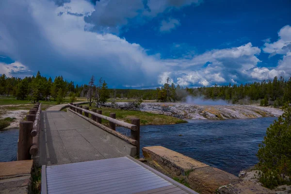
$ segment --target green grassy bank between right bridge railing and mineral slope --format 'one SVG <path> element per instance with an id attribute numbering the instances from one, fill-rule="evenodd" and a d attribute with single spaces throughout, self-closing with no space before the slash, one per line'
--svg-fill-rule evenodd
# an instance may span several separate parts
<path id="1" fill-rule="evenodd" d="M 89 107 L 91 110 L 94 107 Z M 187 121 L 178 119 L 172 116 L 162 115 L 162 114 L 154 114 L 154 113 L 146 113 L 142 111 L 128 111 L 128 110 L 120 110 L 120 109 L 112 109 L 112 108 L 101 108 L 98 110 L 102 110 L 102 114 L 105 116 L 109 116 L 110 113 L 116 113 L 116 119 L 122 120 L 124 122 L 130 123 L 132 118 L 139 118 L 141 125 L 168 125 L 168 124 L 178 124 L 178 123 L 187 123 Z M 91 117 L 91 115 L 89 115 Z M 109 121 L 102 119 L 102 123 L 104 125 L 109 125 Z"/>

